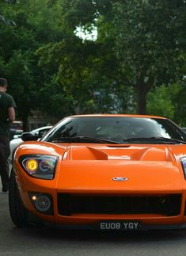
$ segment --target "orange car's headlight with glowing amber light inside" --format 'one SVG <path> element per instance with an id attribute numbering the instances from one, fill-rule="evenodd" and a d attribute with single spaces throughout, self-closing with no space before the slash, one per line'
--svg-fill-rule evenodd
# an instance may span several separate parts
<path id="1" fill-rule="evenodd" d="M 19 163 L 33 178 L 51 180 L 55 176 L 57 160 L 55 155 L 22 155 Z"/>

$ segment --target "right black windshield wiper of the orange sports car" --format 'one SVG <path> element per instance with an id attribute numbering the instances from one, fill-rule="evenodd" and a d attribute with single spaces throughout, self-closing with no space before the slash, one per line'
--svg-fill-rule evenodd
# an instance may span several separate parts
<path id="1" fill-rule="evenodd" d="M 165 137 L 139 137 L 139 138 L 128 138 L 128 139 L 123 139 L 124 142 L 149 142 L 149 141 L 155 141 L 155 142 L 164 142 L 164 143 L 170 143 L 170 144 L 177 144 L 177 143 L 183 143 L 185 144 L 186 142 L 184 140 L 180 139 L 169 139 Z"/>

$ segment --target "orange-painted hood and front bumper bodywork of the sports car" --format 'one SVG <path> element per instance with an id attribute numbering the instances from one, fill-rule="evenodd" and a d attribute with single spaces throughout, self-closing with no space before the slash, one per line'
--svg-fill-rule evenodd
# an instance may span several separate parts
<path id="1" fill-rule="evenodd" d="M 106 115 L 107 116 L 107 115 Z M 131 115 L 132 116 L 132 115 Z M 131 117 L 130 116 L 130 117 Z M 120 115 L 118 115 L 120 117 Z M 122 116 L 123 117 L 123 116 Z M 143 116 L 140 116 L 143 117 Z M 59 157 L 55 178 L 43 180 L 26 174 L 19 163 L 21 155 L 56 155 Z M 102 220 L 138 220 L 142 224 L 186 223 L 186 181 L 180 157 L 186 155 L 186 145 L 165 144 L 101 144 L 25 142 L 15 153 L 13 168 L 25 208 L 41 220 L 55 224 L 96 224 Z M 119 178 L 114 180 L 114 178 Z M 120 181 L 120 178 L 126 180 Z M 53 198 L 53 216 L 37 212 L 28 192 L 48 193 Z M 167 197 L 181 195 L 177 216 L 158 213 L 59 213 L 58 194 L 74 197 Z"/>

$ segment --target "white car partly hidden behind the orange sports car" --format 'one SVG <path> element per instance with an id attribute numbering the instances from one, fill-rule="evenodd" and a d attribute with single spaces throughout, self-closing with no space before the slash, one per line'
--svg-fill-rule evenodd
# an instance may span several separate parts
<path id="1" fill-rule="evenodd" d="M 38 136 L 39 138 L 41 138 L 42 136 L 44 136 L 44 134 L 49 131 L 51 129 L 52 126 L 44 126 L 44 127 L 40 127 L 37 128 L 35 130 L 32 130 L 31 133 L 33 135 Z M 9 146 L 10 146 L 10 155 L 9 155 L 9 162 L 12 162 L 12 155 L 13 155 L 13 151 L 16 147 L 18 147 L 21 143 L 23 142 L 23 140 L 19 137 L 17 139 L 12 139 L 10 140 Z"/>

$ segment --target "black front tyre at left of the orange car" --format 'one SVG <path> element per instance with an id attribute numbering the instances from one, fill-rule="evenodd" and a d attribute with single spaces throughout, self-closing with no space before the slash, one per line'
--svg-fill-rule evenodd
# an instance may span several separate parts
<path id="1" fill-rule="evenodd" d="M 21 202 L 13 168 L 9 178 L 9 213 L 13 220 L 13 224 L 15 224 L 17 227 L 28 226 L 28 211 Z"/>

